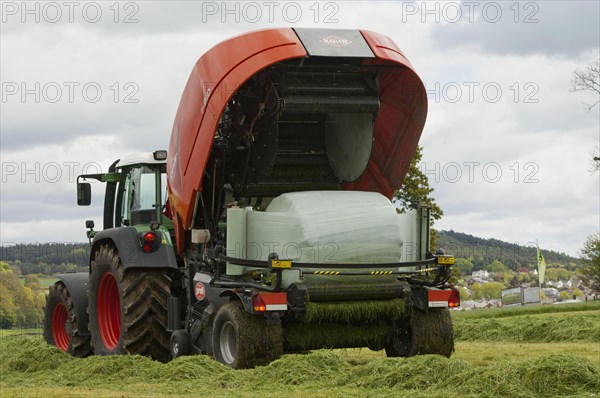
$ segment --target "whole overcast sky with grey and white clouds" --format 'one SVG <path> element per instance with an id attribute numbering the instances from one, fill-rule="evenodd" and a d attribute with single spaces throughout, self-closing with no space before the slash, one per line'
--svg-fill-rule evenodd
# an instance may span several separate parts
<path id="1" fill-rule="evenodd" d="M 78 242 L 75 177 L 166 148 L 195 61 L 268 27 L 390 36 L 426 84 L 436 224 L 578 255 L 600 225 L 600 105 L 570 92 L 600 57 L 597 1 L 2 2 L 0 242 Z"/>

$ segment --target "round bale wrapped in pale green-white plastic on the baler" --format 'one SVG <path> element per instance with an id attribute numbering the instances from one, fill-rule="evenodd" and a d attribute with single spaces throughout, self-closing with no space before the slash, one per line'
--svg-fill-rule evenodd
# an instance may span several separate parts
<path id="1" fill-rule="evenodd" d="M 397 262 L 400 219 L 374 192 L 310 191 L 275 198 L 266 211 L 247 213 L 246 256 L 313 263 Z"/>

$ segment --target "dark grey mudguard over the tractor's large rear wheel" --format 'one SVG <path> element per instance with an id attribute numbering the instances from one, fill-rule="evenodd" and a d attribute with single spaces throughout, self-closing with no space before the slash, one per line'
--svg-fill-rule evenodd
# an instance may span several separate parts
<path id="1" fill-rule="evenodd" d="M 158 250 L 144 253 L 134 227 L 119 227 L 99 231 L 94 236 L 90 256 L 90 272 L 92 258 L 96 250 L 103 244 L 112 244 L 117 248 L 124 269 L 128 268 L 177 268 L 177 259 L 173 247 L 161 243 Z"/>

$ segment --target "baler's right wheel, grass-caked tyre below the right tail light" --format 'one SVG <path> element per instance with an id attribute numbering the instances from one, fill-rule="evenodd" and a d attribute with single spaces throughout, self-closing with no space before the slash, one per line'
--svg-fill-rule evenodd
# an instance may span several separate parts
<path id="1" fill-rule="evenodd" d="M 415 309 L 410 329 L 394 333 L 385 346 L 388 357 L 438 354 L 450 358 L 454 352 L 454 330 L 447 308 Z"/>

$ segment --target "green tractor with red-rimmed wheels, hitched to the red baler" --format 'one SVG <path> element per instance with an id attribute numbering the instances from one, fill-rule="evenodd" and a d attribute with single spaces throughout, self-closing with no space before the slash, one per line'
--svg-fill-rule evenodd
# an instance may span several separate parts
<path id="1" fill-rule="evenodd" d="M 106 183 L 104 230 L 94 231 L 93 221 L 86 221 L 89 273 L 60 275 L 50 287 L 48 343 L 78 357 L 92 352 L 170 357 L 167 297 L 177 262 L 173 226 L 164 214 L 165 171 L 166 151 L 156 151 L 118 160 L 108 173 L 78 177 L 77 202 L 83 206 L 90 204 L 91 184 L 80 180 Z"/>

